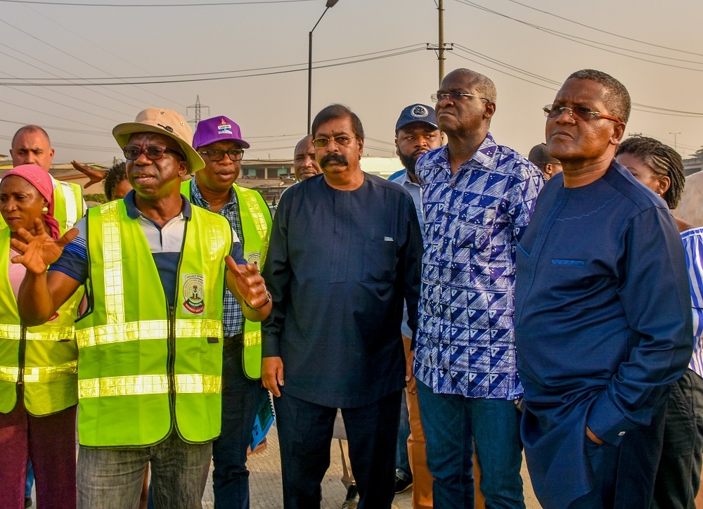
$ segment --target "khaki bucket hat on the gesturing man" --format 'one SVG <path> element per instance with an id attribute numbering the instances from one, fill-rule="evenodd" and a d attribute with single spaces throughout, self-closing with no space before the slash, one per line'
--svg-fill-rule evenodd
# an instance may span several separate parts
<path id="1" fill-rule="evenodd" d="M 122 148 L 129 143 L 129 136 L 145 132 L 165 134 L 173 138 L 186 155 L 188 172 L 195 173 L 205 168 L 205 161 L 191 146 L 193 129 L 179 112 L 163 108 L 147 108 L 139 112 L 134 122 L 115 126 L 115 129 L 112 129 L 112 136 L 115 136 L 117 144 Z"/>

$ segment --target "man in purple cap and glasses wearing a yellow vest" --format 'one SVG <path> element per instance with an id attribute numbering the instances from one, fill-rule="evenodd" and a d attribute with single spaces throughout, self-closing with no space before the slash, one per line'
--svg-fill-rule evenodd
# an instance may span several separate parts
<path id="1" fill-rule="evenodd" d="M 202 120 L 193 135 L 193 148 L 205 168 L 181 184 L 181 193 L 205 210 L 224 216 L 242 241 L 247 262 L 264 265 L 271 231 L 271 212 L 258 191 L 238 186 L 244 149 L 236 122 L 221 115 Z M 242 307 L 224 292 L 222 364 L 222 434 L 212 444 L 212 491 L 215 503 L 249 508 L 247 447 L 257 408 L 268 392 L 261 385 L 261 326 L 245 320 Z"/>

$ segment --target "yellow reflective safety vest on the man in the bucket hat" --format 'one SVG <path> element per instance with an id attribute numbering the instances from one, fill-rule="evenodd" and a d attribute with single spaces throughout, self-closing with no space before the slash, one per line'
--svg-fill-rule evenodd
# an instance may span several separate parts
<path id="1" fill-rule="evenodd" d="M 89 314 L 76 323 L 78 434 L 89 447 L 146 446 L 221 426 L 224 259 L 232 229 L 192 207 L 170 307 L 148 241 L 122 200 L 86 214 Z"/>

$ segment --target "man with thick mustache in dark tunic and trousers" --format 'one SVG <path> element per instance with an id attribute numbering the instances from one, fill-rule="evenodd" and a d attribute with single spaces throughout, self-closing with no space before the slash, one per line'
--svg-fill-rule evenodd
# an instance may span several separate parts
<path id="1" fill-rule="evenodd" d="M 361 171 L 352 110 L 324 108 L 312 134 L 323 174 L 281 198 L 264 266 L 274 310 L 262 381 L 276 397 L 283 506 L 320 507 L 341 408 L 359 507 L 390 508 L 406 385 L 400 324 L 404 301 L 417 323 L 420 226 L 403 188 Z"/>

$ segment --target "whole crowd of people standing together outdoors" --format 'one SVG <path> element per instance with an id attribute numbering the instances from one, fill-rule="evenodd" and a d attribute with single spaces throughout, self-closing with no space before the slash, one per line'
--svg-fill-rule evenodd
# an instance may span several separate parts
<path id="1" fill-rule="evenodd" d="M 34 125 L 0 181 L 0 508 L 250 506 L 273 397 L 283 507 L 695 508 L 703 228 L 675 150 L 625 138 L 625 86 L 570 75 L 529 157 L 490 132 L 467 69 L 399 108 L 389 179 L 329 105 L 276 213 L 239 186 L 250 144 L 148 108 L 112 134 L 108 202 L 49 174 Z M 540 136 L 536 134 L 538 141 Z M 699 212 L 699 207 L 690 207 Z M 75 439 L 79 440 L 77 461 Z M 150 475 L 148 471 L 150 469 Z M 475 489 L 475 476 L 479 489 Z M 148 494 L 148 495 L 147 495 Z M 148 501 L 148 502 L 147 502 Z"/>

